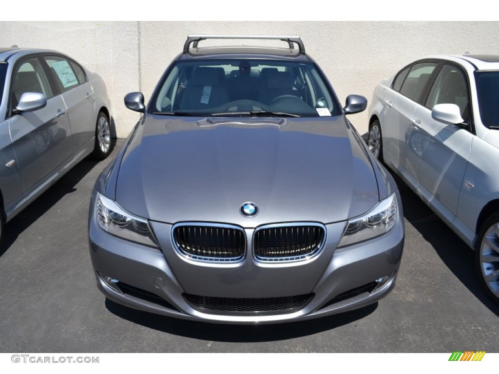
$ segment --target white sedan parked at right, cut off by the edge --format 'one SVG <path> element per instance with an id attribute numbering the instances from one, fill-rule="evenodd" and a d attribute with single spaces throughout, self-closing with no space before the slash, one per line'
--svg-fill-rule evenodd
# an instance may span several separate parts
<path id="1" fill-rule="evenodd" d="M 368 145 L 471 248 L 499 304 L 499 56 L 430 56 L 376 87 Z"/>

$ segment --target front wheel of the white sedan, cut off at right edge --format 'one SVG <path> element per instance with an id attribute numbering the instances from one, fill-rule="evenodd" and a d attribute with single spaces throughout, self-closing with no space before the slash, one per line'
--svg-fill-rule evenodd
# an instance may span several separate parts
<path id="1" fill-rule="evenodd" d="M 487 296 L 499 306 L 499 212 L 482 225 L 475 252 L 479 282 Z"/>

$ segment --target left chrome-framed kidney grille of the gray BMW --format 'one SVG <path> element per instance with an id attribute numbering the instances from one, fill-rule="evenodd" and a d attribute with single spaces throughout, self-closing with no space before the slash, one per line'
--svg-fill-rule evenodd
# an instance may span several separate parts
<path id="1" fill-rule="evenodd" d="M 172 242 L 184 259 L 210 262 L 240 262 L 246 255 L 246 233 L 239 226 L 182 222 L 172 227 Z"/>

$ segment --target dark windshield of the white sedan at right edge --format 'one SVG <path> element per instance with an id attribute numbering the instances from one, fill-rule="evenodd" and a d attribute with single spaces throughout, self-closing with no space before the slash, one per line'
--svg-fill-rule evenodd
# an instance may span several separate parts
<path id="1" fill-rule="evenodd" d="M 487 127 L 499 127 L 499 71 L 476 73 L 478 101 L 482 123 Z"/>

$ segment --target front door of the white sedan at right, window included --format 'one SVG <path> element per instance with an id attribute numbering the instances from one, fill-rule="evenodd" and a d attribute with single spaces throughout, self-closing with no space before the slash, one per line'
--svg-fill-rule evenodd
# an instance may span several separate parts
<path id="1" fill-rule="evenodd" d="M 446 125 L 432 118 L 436 104 L 456 104 L 464 124 Z M 457 212 L 460 188 L 474 135 L 471 133 L 468 80 L 462 70 L 444 64 L 411 119 L 407 153 L 411 172 L 431 195 L 453 214 Z"/>

